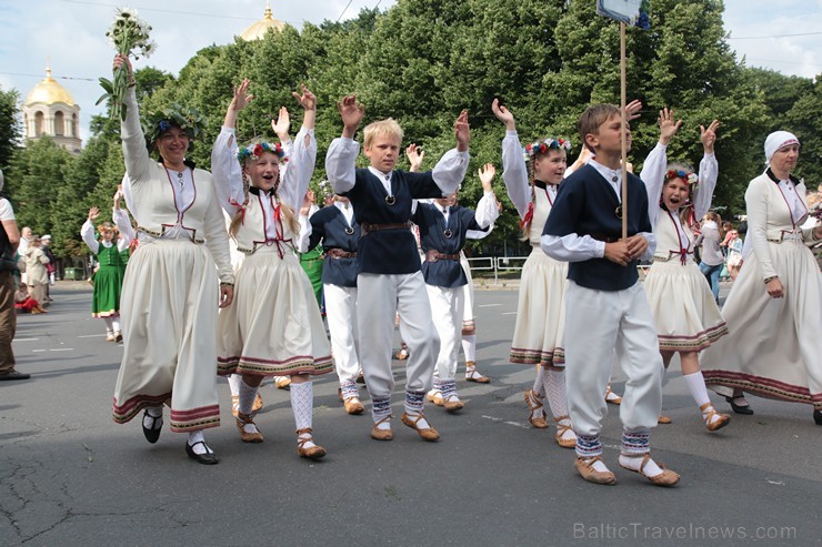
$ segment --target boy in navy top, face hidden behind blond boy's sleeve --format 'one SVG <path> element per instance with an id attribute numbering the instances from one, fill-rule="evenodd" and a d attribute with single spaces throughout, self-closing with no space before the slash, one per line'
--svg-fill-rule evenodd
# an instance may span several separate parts
<path id="1" fill-rule="evenodd" d="M 433 203 L 418 203 L 412 221 L 420 229 L 420 243 L 424 255 L 422 276 L 437 334 L 440 352 L 437 356 L 437 376 L 428 399 L 448 412 L 462 409 L 457 394 L 457 361 L 462 341 L 462 315 L 465 297 L 463 287 L 468 276 L 460 264 L 460 252 L 465 246 L 469 231 L 488 231 L 499 216 L 497 196 L 491 189 L 494 168 L 488 163 L 479 171 L 483 196 L 477 211 L 457 205 L 457 194 L 439 197 Z"/>

